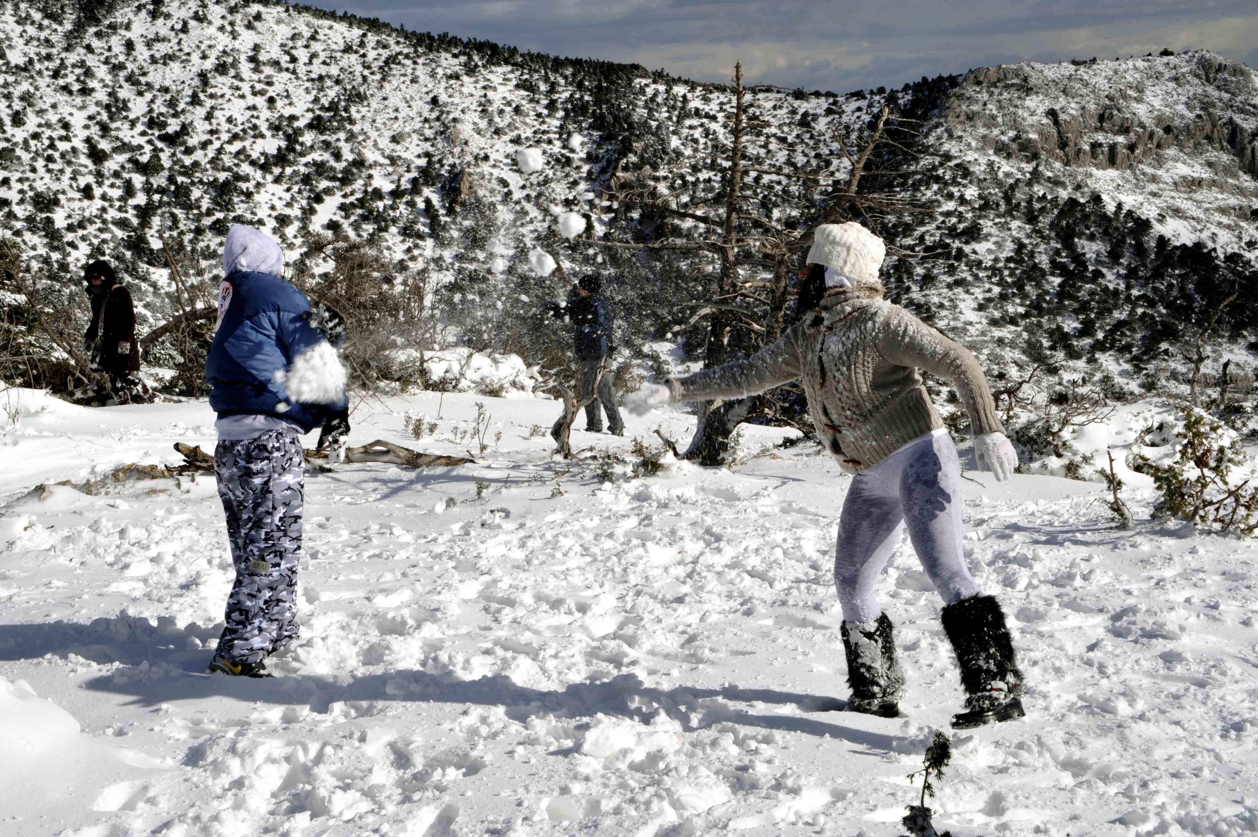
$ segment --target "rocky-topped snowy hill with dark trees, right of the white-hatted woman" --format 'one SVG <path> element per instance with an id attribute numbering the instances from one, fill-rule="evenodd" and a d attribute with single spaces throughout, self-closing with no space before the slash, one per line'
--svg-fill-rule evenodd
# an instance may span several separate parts
<path id="1" fill-rule="evenodd" d="M 933 215 L 893 223 L 922 261 L 894 293 L 1010 361 L 1059 359 L 1138 391 L 1232 291 L 1211 340 L 1253 368 L 1258 274 L 1258 87 L 1210 53 L 972 70 L 917 146 L 910 189 Z M 905 244 L 902 244 L 905 245 Z M 1069 362 L 1084 361 L 1084 362 Z"/>

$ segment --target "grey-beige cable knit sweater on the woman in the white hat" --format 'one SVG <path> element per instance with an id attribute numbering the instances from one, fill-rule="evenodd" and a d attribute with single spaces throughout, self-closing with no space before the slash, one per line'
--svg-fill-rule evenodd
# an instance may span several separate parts
<path id="1" fill-rule="evenodd" d="M 860 473 L 944 427 L 925 369 L 952 384 L 975 434 L 1003 433 L 977 359 L 882 295 L 877 283 L 832 289 L 756 355 L 669 380 L 673 400 L 743 398 L 798 379 L 818 437 L 843 471 Z"/>

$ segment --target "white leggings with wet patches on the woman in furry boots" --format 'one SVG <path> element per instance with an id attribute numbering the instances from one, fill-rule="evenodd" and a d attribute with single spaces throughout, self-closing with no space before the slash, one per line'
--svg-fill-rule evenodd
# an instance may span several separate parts
<path id="1" fill-rule="evenodd" d="M 839 515 L 834 585 L 844 622 L 882 614 L 873 587 L 908 525 L 922 569 L 945 604 L 979 595 L 961 546 L 961 463 L 944 430 L 927 433 L 852 480 Z"/>

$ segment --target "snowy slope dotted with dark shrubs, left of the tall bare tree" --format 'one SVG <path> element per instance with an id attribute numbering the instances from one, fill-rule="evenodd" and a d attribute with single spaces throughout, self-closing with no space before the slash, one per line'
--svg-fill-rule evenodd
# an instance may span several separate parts
<path id="1" fill-rule="evenodd" d="M 616 225 L 633 234 L 635 219 L 608 199 L 611 181 L 710 152 L 730 107 L 720 89 L 640 67 L 274 3 L 5 0 L 0 48 L 5 234 L 31 273 L 62 287 L 89 258 L 120 261 L 138 286 L 141 332 L 181 311 L 181 293 L 208 301 L 228 225 L 249 223 L 279 239 L 316 291 L 385 289 L 420 311 L 411 320 L 435 312 L 439 322 L 398 335 L 409 347 L 435 339 L 533 362 L 550 344 L 528 345 L 527 323 L 566 284 L 538 277 L 531 257 L 562 254 L 569 281 L 598 267 L 596 249 L 569 239 Z M 839 118 L 796 127 L 800 115 L 837 113 L 833 94 L 757 99 L 805 150 Z M 365 243 L 370 287 L 321 286 L 336 245 L 313 247 L 312 234 Z M 164 240 L 187 292 L 171 281 Z M 659 295 L 659 282 L 626 284 L 613 283 L 613 297 Z M 62 316 L 84 320 L 82 295 L 47 293 Z M 653 323 L 633 317 L 658 313 L 624 308 L 637 342 Z M 34 331 L 26 341 L 11 354 L 52 351 Z M 157 346 L 146 360 L 176 365 L 179 351 Z"/>

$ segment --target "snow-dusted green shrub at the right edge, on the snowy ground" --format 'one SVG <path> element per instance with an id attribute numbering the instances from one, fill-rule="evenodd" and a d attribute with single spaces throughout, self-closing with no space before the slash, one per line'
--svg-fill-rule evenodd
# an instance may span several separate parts
<path id="1" fill-rule="evenodd" d="M 1174 424 L 1164 422 L 1150 433 L 1162 448 L 1128 457 L 1132 471 L 1149 475 L 1161 497 L 1155 517 L 1175 517 L 1201 529 L 1258 530 L 1258 485 L 1254 462 L 1245 454 L 1235 430 L 1210 414 L 1188 408 Z"/>

